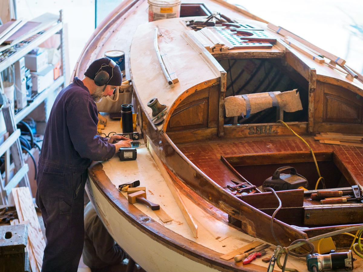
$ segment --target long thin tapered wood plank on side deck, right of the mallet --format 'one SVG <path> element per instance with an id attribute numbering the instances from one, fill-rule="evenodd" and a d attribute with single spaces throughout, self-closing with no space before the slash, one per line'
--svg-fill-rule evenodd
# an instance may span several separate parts
<path id="1" fill-rule="evenodd" d="M 158 155 L 156 155 L 154 149 L 152 149 L 151 146 L 149 148 L 149 151 L 150 151 L 152 157 L 154 158 L 156 165 L 158 165 L 160 173 L 164 177 L 164 180 L 165 180 L 166 184 L 168 185 L 176 203 L 178 204 L 181 213 L 183 214 L 185 220 L 187 221 L 190 230 L 192 231 L 194 237 L 197 238 L 198 237 L 198 226 L 194 222 L 193 217 L 189 214 L 188 209 L 185 206 L 183 199 L 181 199 L 180 192 L 174 186 L 173 181 L 171 180 L 171 177 L 169 176 L 169 174 L 167 172 L 166 166 L 159 159 Z"/>

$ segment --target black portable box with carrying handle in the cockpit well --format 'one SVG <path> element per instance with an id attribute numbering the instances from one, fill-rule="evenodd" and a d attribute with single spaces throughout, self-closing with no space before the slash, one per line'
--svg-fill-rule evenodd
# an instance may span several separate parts
<path id="1" fill-rule="evenodd" d="M 282 171 L 290 169 L 289 174 L 281 174 Z M 262 188 L 271 187 L 275 191 L 294 190 L 303 187 L 309 189 L 306 178 L 299 175 L 294 167 L 283 166 L 273 173 L 272 177 L 267 178 L 262 184 Z"/>

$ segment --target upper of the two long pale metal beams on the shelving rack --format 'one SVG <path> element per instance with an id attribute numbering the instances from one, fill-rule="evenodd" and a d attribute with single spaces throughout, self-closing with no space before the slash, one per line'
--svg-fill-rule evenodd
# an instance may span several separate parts
<path id="1" fill-rule="evenodd" d="M 38 45 L 40 45 L 42 42 L 45 42 L 50 38 L 50 36 L 56 34 L 59 30 L 61 30 L 63 27 L 62 22 L 58 22 L 56 25 L 52 26 L 48 30 L 46 30 L 44 33 L 40 34 L 39 37 L 35 38 L 29 44 L 25 45 L 22 48 L 19 48 L 19 51 L 12 54 L 10 57 L 8 57 L 5 61 L 0 62 L 0 72 L 12 65 L 14 62 L 18 61 L 21 57 L 24 57 L 24 55 L 28 54 L 30 51 L 32 51 L 34 48 L 36 48 Z"/>

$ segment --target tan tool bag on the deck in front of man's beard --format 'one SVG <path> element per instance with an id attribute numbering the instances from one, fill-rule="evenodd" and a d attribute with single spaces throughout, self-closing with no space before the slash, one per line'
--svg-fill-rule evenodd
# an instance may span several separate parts
<path id="1" fill-rule="evenodd" d="M 121 112 L 122 104 L 131 104 L 132 85 L 130 87 L 118 87 L 114 95 L 104 97 L 96 103 L 99 112 Z"/>

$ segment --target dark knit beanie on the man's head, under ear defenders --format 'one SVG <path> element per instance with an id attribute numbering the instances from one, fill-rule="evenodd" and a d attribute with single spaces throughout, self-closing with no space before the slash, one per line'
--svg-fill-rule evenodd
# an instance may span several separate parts
<path id="1" fill-rule="evenodd" d="M 112 77 L 112 67 L 105 66 L 105 65 L 108 65 L 109 63 L 110 63 L 109 58 L 96 59 L 94 62 L 91 63 L 90 66 L 88 66 L 87 70 L 85 71 L 85 76 L 89 77 L 91 79 L 94 79 L 98 70 L 103 65 L 104 67 L 102 67 L 102 71 L 106 71 L 107 73 L 109 73 L 110 78 L 111 78 Z M 122 73 L 121 73 L 120 67 L 118 65 L 116 65 L 115 68 L 113 69 L 113 77 L 111 78 L 108 85 L 120 86 L 121 83 L 122 83 Z"/>

